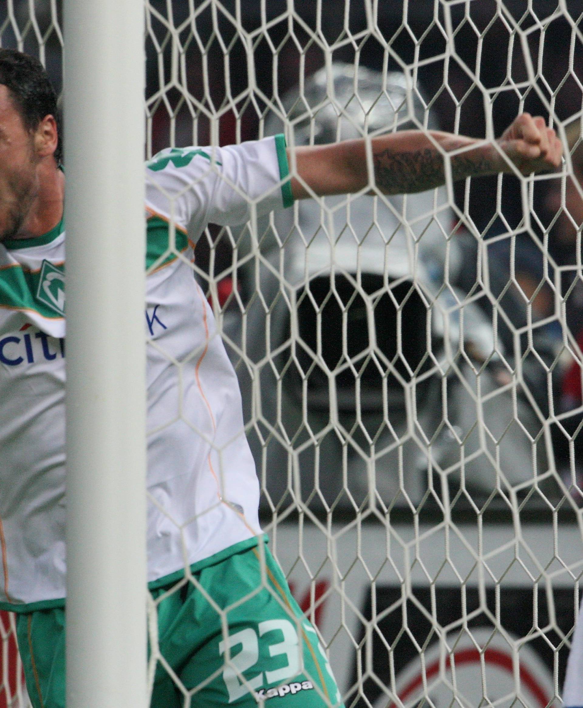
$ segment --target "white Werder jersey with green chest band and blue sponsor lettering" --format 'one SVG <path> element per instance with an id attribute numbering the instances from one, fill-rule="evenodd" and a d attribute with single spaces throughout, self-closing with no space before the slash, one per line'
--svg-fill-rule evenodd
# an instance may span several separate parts
<path id="1" fill-rule="evenodd" d="M 283 136 L 147 164 L 151 586 L 260 532 L 237 376 L 190 262 L 208 223 L 290 205 L 285 178 Z M 64 268 L 63 223 L 0 244 L 0 607 L 16 611 L 65 596 Z"/>

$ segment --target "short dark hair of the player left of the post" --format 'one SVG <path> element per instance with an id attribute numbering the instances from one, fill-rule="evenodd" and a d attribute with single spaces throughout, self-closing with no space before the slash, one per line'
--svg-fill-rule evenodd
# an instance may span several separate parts
<path id="1" fill-rule="evenodd" d="M 57 95 L 38 59 L 13 49 L 0 49 L 0 84 L 9 89 L 27 130 L 36 130 L 47 115 L 57 118 Z M 62 158 L 61 140 L 55 160 Z"/>

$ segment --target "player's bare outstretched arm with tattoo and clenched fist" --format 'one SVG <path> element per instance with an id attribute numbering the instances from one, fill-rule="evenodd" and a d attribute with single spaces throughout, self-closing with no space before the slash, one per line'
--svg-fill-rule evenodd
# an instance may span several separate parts
<path id="1" fill-rule="evenodd" d="M 555 131 L 528 113 L 514 120 L 497 146 L 446 132 L 404 130 L 371 139 L 370 148 L 370 161 L 363 139 L 288 149 L 290 166 L 300 177 L 291 181 L 294 198 L 358 192 L 373 183 L 385 194 L 423 192 L 445 183 L 446 162 L 455 181 L 550 171 L 562 155 Z"/>

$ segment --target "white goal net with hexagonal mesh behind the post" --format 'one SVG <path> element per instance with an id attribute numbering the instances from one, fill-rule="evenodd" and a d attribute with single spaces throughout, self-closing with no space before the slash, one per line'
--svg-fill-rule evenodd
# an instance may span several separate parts
<path id="1" fill-rule="evenodd" d="M 347 707 L 560 704 L 583 563 L 576 6 L 145 3 L 147 159 L 172 147 L 178 166 L 185 147 L 279 134 L 291 149 L 410 128 L 494 140 L 522 111 L 565 145 L 552 175 L 373 189 L 263 216 L 255 200 L 246 224 L 211 223 L 188 261 L 216 321 L 204 347 L 171 358 L 152 331 L 164 320 L 147 315 L 149 352 L 179 372 L 195 361 L 198 375 L 222 338 L 262 527 Z M 60 91 L 60 2 L 8 0 L 0 13 L 1 46 L 38 56 Z M 221 175 L 212 151 L 208 162 Z M 151 273 L 186 258 L 176 224 L 168 234 Z M 175 419 L 208 435 L 183 395 L 151 435 Z M 208 440 L 219 484 L 232 439 Z M 202 687 L 157 649 L 158 607 L 150 679 L 167 670 L 196 704 Z M 2 620 L 0 707 L 24 708 Z M 225 661 L 243 695 L 259 684 L 239 653 L 232 644 Z"/>

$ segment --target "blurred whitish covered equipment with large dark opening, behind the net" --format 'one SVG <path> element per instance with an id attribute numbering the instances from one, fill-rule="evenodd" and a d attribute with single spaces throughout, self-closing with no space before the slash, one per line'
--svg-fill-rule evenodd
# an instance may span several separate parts
<path id="1" fill-rule="evenodd" d="M 311 76 L 283 112 L 293 145 L 437 127 L 404 74 L 383 84 L 361 67 L 355 79 L 351 64 Z M 266 134 L 278 132 L 271 115 Z M 492 326 L 455 287 L 465 266 L 454 223 L 440 188 L 302 200 L 260 219 L 256 235 L 233 234 L 246 307 L 222 327 L 264 504 L 417 505 L 440 470 L 487 494 L 496 459 L 503 486 L 533 478 L 525 430 L 536 420 L 519 397 L 522 426 L 512 423 Z"/>

